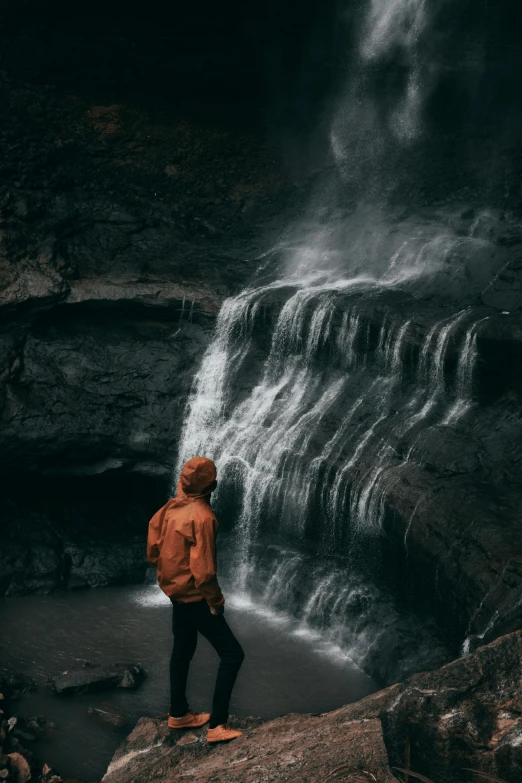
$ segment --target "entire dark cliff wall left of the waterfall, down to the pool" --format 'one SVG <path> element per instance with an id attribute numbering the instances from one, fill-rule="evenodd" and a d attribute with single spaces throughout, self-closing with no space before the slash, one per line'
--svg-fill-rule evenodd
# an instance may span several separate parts
<path id="1" fill-rule="evenodd" d="M 2 591 L 143 578 L 220 303 L 307 190 L 277 129 L 332 9 L 2 6 Z"/>

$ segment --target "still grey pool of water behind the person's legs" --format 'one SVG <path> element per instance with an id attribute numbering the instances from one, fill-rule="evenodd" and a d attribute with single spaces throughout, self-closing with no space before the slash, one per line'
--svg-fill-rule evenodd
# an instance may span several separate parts
<path id="1" fill-rule="evenodd" d="M 55 737 L 33 746 L 39 758 L 64 776 L 99 780 L 139 717 L 166 715 L 171 612 L 156 586 L 1 600 L 0 662 L 30 674 L 40 686 L 16 709 L 21 715 L 44 714 L 58 727 Z M 246 653 L 231 704 L 237 715 L 324 712 L 377 689 L 345 653 L 290 617 L 228 594 L 226 617 Z M 49 675 L 86 660 L 141 663 L 148 676 L 136 691 L 65 697 L 46 686 Z M 200 637 L 188 689 L 196 710 L 210 709 L 217 665 L 213 649 Z M 107 726 L 88 714 L 90 706 L 107 703 L 121 711 L 125 726 Z"/>

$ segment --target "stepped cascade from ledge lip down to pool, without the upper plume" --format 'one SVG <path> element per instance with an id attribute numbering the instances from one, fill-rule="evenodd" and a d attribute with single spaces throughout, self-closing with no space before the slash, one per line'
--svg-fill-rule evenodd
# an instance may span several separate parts
<path id="1" fill-rule="evenodd" d="M 188 403 L 179 464 L 206 454 L 218 465 L 217 507 L 234 495 L 230 590 L 291 610 L 300 632 L 315 627 L 364 664 L 371 617 L 383 604 L 370 574 L 387 492 L 415 462 L 417 438 L 455 419 L 454 386 L 459 405 L 471 405 L 478 322 L 461 310 L 426 328 L 419 343 L 418 314 L 388 308 L 373 323 L 365 301 L 377 289 L 349 282 L 278 280 L 223 304 Z M 274 301 L 276 293 L 286 301 Z M 450 346 L 459 354 L 455 378 Z M 310 540 L 322 553 L 315 560 Z M 371 596 L 358 617 L 354 590 Z"/>

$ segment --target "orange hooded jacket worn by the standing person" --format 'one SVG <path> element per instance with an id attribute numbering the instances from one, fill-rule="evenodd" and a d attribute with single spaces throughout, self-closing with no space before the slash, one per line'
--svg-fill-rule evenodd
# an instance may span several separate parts
<path id="1" fill-rule="evenodd" d="M 225 603 L 216 576 L 218 523 L 209 502 L 215 486 L 212 460 L 194 457 L 183 466 L 176 497 L 149 522 L 147 557 L 159 586 L 176 601 Z"/>

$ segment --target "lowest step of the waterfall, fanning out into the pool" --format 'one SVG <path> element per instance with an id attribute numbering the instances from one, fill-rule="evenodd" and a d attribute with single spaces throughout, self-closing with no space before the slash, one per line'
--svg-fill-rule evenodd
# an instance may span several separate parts
<path id="1" fill-rule="evenodd" d="M 260 543 L 241 576 L 234 570 L 230 538 L 220 542 L 220 551 L 229 603 L 311 640 L 334 660 L 353 661 L 380 685 L 451 658 L 435 623 L 420 609 L 414 612 L 411 600 L 392 594 L 378 565 L 368 574 L 330 554 Z"/>

